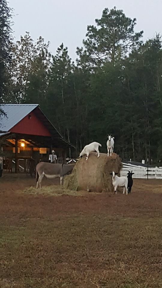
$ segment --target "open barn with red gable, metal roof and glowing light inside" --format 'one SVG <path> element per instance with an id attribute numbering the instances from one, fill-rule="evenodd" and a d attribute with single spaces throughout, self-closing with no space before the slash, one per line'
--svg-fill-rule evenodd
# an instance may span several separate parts
<path id="1" fill-rule="evenodd" d="M 20 162 L 35 159 L 48 161 L 52 150 L 57 161 L 65 162 L 69 148 L 75 147 L 66 141 L 41 111 L 38 104 L 0 105 L 4 115 L 0 118 L 0 145 L 4 163 L 15 163 L 14 171 L 19 172 Z"/>

